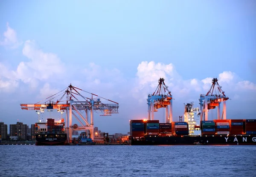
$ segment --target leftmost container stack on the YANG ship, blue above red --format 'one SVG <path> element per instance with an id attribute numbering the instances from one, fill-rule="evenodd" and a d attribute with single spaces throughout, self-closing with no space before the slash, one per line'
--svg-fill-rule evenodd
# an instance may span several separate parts
<path id="1" fill-rule="evenodd" d="M 130 121 L 131 137 L 144 137 L 145 123 L 143 120 Z"/>

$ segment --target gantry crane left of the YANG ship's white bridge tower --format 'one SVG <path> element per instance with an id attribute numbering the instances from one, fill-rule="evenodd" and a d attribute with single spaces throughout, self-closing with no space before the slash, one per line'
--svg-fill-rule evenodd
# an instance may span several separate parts
<path id="1" fill-rule="evenodd" d="M 157 89 L 153 94 L 148 94 L 148 120 L 154 120 L 154 112 L 159 108 L 166 108 L 166 123 L 172 122 L 172 94 L 165 85 L 164 79 L 158 80 Z M 169 114 L 168 114 L 168 106 Z"/>

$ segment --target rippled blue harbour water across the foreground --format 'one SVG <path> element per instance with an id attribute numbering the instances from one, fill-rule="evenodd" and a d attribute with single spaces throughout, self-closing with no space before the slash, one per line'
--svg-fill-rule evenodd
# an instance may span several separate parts
<path id="1" fill-rule="evenodd" d="M 0 146 L 1 177 L 256 177 L 256 146 Z"/>

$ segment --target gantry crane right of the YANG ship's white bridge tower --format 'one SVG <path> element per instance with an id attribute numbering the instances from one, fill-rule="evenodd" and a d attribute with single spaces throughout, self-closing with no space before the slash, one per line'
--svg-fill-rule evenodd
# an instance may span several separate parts
<path id="1" fill-rule="evenodd" d="M 207 92 L 207 94 L 200 94 L 199 104 L 200 104 L 200 119 L 208 120 L 208 110 L 214 109 L 217 106 L 218 110 L 218 119 L 226 120 L 226 101 L 229 98 L 222 91 L 221 86 L 218 84 L 218 79 L 212 79 L 212 86 Z M 221 116 L 221 107 L 220 104 L 223 102 L 223 111 Z"/>

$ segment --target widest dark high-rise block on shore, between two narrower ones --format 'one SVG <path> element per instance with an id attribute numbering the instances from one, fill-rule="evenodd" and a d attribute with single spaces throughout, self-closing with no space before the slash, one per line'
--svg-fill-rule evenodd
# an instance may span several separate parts
<path id="1" fill-rule="evenodd" d="M 26 140 L 27 125 L 21 122 L 10 124 L 10 137 L 17 137 L 18 140 Z"/>

